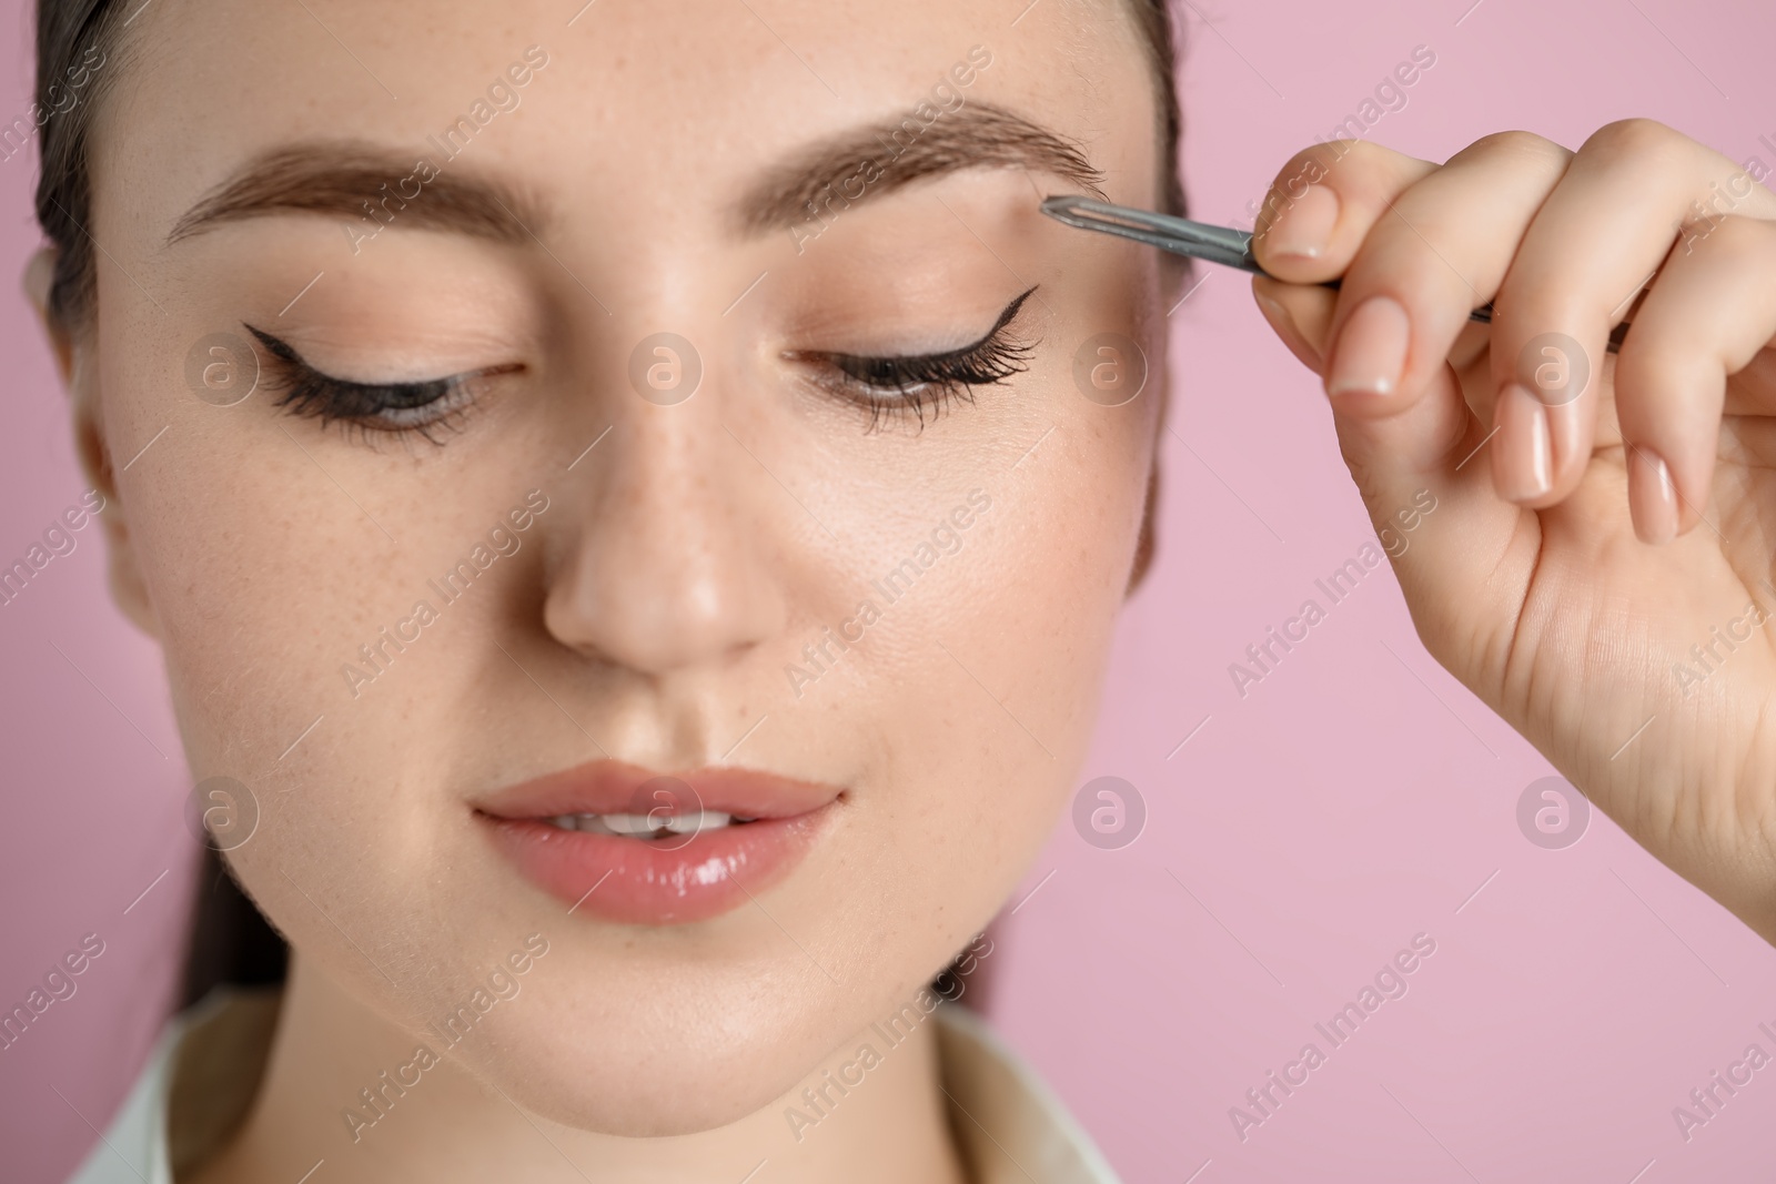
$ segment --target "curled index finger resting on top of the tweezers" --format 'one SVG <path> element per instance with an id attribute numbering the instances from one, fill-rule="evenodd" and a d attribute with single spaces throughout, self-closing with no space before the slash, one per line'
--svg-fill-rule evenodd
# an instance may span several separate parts
<path id="1" fill-rule="evenodd" d="M 1350 266 L 1369 227 L 1437 165 L 1368 140 L 1330 140 L 1296 153 L 1265 195 L 1252 254 L 1270 275 L 1320 284 Z"/>

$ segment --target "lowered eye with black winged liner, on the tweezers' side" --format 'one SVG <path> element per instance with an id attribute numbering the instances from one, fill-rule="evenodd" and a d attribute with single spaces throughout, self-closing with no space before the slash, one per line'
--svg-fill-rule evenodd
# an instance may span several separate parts
<path id="1" fill-rule="evenodd" d="M 870 428 L 876 428 L 883 415 L 916 415 L 924 428 L 927 408 L 936 417 L 948 399 L 973 401 L 975 387 L 1000 383 L 1028 369 L 1030 355 L 1039 343 L 1019 341 L 1005 330 L 1034 291 L 1035 288 L 1030 288 L 1005 305 L 986 335 L 955 350 L 899 357 L 790 350 L 785 357 L 819 364 L 824 373 L 817 373 L 815 382 L 838 398 L 867 408 Z"/>

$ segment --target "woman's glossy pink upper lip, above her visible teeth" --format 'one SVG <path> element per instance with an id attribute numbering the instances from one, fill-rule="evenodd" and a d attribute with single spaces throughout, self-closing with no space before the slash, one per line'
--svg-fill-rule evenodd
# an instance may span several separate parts
<path id="1" fill-rule="evenodd" d="M 597 760 L 508 785 L 472 802 L 494 818 L 559 815 L 686 815 L 698 809 L 735 818 L 794 818 L 835 801 L 831 785 L 794 781 L 751 769 L 694 769 L 657 774 L 639 765 Z"/>

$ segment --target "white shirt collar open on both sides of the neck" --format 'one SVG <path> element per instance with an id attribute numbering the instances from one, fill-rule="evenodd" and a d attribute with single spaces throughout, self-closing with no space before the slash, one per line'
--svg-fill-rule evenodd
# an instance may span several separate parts
<path id="1" fill-rule="evenodd" d="M 167 1097 L 188 1033 L 240 1019 L 265 992 L 218 987 L 174 1015 L 147 1065 L 67 1184 L 174 1184 Z M 1048 1085 L 964 1006 L 936 1010 L 950 1127 L 975 1184 L 1119 1184 L 1110 1163 Z"/>

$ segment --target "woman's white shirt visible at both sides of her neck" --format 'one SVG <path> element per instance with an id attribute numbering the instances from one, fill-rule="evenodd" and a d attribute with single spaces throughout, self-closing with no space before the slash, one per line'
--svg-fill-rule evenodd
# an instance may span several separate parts
<path id="1" fill-rule="evenodd" d="M 167 1021 L 130 1097 L 99 1143 L 67 1184 L 174 1184 L 167 1129 L 174 1088 L 199 1090 L 222 1104 L 194 1108 L 206 1118 L 224 1115 L 208 1131 L 186 1133 L 186 1154 L 208 1150 L 250 1097 L 275 1021 L 275 991 L 218 987 L 202 1003 Z M 950 1129 L 970 1179 L 979 1184 L 1119 1184 L 1110 1163 L 1035 1072 L 973 1012 L 943 1005 L 938 1017 L 938 1062 L 948 1099 Z M 226 1053 L 233 1063 L 192 1069 L 181 1062 L 186 1042 Z M 206 1072 L 206 1070 L 218 1072 Z M 183 1076 L 181 1076 L 183 1074 Z M 204 1079 L 192 1081 L 194 1076 Z M 243 1088 L 249 1086 L 249 1088 Z M 233 1095 L 240 1106 L 227 1106 Z"/>

